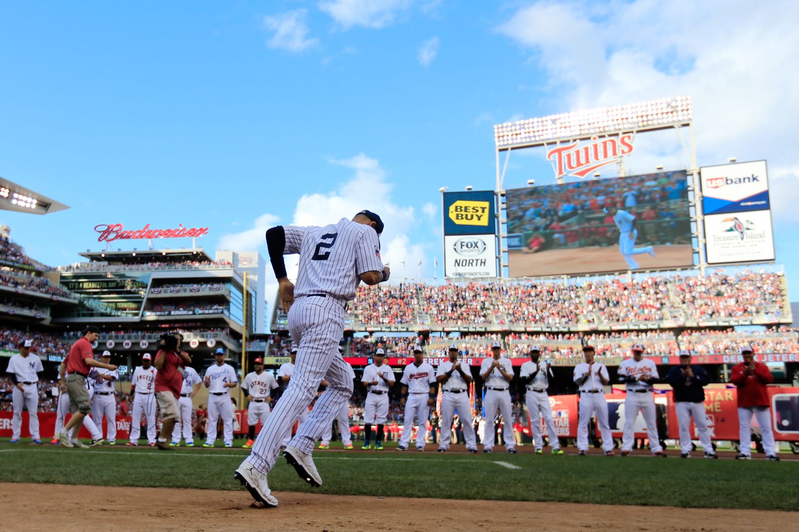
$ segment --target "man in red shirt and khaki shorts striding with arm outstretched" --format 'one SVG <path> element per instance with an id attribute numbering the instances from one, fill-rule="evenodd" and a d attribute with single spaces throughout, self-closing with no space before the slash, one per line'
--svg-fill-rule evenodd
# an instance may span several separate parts
<path id="1" fill-rule="evenodd" d="M 83 425 L 83 418 L 92 412 L 92 401 L 89 399 L 89 389 L 86 387 L 86 379 L 92 367 L 105 367 L 107 370 L 117 369 L 113 364 L 98 362 L 94 359 L 92 344 L 100 337 L 100 329 L 94 325 L 86 328 L 85 334 L 70 347 L 70 353 L 61 363 L 58 371 L 58 387 L 62 393 L 66 392 L 70 397 L 70 411 L 72 418 L 64 425 L 62 431 L 58 433 L 58 440 L 64 447 L 75 447 L 70 441 L 70 431 L 72 427 Z M 80 444 L 80 447 L 85 447 Z"/>

